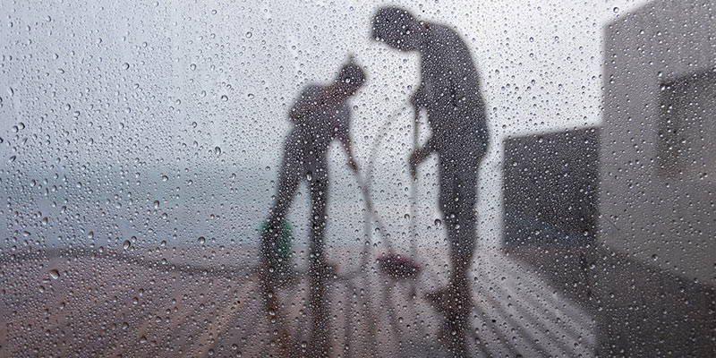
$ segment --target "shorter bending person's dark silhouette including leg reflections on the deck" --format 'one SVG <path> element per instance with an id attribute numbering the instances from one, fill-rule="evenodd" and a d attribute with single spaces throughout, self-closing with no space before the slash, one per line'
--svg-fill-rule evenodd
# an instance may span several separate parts
<path id="1" fill-rule="evenodd" d="M 335 139 L 341 141 L 348 155 L 348 166 L 358 171 L 349 135 L 350 108 L 346 100 L 354 95 L 364 81 L 365 73 L 350 60 L 331 84 L 309 85 L 296 99 L 288 115 L 294 128 L 286 139 L 276 200 L 270 210 L 267 228 L 261 234 L 267 309 L 269 314 L 276 314 L 278 304 L 275 288 L 281 280 L 287 278 L 286 265 L 282 265 L 278 257 L 277 239 L 282 234 L 284 218 L 294 200 L 298 184 L 305 180 L 311 192 L 311 339 L 308 352 L 317 356 L 328 356 L 330 347 L 326 308 L 326 280 L 330 272 L 323 252 L 328 198 L 328 146 Z"/>

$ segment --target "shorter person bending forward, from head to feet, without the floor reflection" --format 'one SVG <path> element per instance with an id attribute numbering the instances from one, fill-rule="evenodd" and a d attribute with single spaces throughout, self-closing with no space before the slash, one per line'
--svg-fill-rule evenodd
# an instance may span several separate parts
<path id="1" fill-rule="evenodd" d="M 294 127 L 284 144 L 276 200 L 262 234 L 262 254 L 269 264 L 277 261 L 276 238 L 281 234 L 282 223 L 302 181 L 308 183 L 311 192 L 311 256 L 315 259 L 323 257 L 321 243 L 326 226 L 328 147 L 332 141 L 340 141 L 348 155 L 348 166 L 358 170 L 349 133 L 351 111 L 347 100 L 364 81 L 365 73 L 351 57 L 332 83 L 306 86 L 290 109 L 288 117 Z"/>

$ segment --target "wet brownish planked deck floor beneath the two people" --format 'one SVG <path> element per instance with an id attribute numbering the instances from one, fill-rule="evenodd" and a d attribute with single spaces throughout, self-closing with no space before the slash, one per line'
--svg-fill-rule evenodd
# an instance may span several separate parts
<path id="1" fill-rule="evenodd" d="M 6 252 L 0 260 L 2 356 L 305 356 L 308 285 L 299 275 L 267 312 L 255 255 L 226 248 Z M 443 254 L 444 256 L 444 254 Z M 421 252 L 422 274 L 395 281 L 345 256 L 328 281 L 332 356 L 450 356 L 442 316 L 423 295 L 447 260 Z M 588 312 L 523 263 L 482 251 L 473 266 L 473 356 L 591 356 Z M 231 262 L 243 262 L 235 267 Z M 273 322 L 271 322 L 273 320 Z M 287 338 L 286 338 L 287 336 Z"/>

